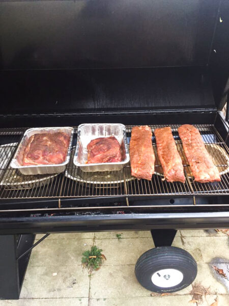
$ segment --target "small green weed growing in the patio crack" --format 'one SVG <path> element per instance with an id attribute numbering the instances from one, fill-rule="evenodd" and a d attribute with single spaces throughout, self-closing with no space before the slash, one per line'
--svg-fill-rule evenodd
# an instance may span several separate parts
<path id="1" fill-rule="evenodd" d="M 106 260 L 106 257 L 101 253 L 102 249 L 99 249 L 96 245 L 91 247 L 91 250 L 87 250 L 82 253 L 82 265 L 89 269 L 89 273 L 94 270 L 99 270 L 103 260 Z"/>

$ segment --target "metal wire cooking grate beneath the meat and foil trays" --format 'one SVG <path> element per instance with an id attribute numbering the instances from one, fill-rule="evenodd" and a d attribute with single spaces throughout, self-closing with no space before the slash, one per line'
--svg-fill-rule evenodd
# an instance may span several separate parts
<path id="1" fill-rule="evenodd" d="M 152 131 L 157 127 L 152 125 Z M 193 196 L 229 194 L 229 149 L 213 125 L 195 125 L 201 132 L 206 147 L 219 168 L 221 182 L 200 184 L 194 182 L 190 168 L 182 149 L 177 129 L 179 125 L 170 125 L 178 150 L 184 162 L 185 184 L 163 181 L 162 169 L 155 150 L 155 172 L 152 181 L 136 180 L 130 175 L 130 166 L 121 171 L 83 172 L 72 163 L 77 134 L 75 129 L 71 161 L 66 171 L 56 175 L 22 175 L 9 167 L 26 129 L 0 130 L 0 199 L 25 198 L 85 198 L 85 197 L 132 197 L 132 196 Z M 126 126 L 127 140 L 130 141 L 132 125 Z M 154 135 L 154 134 L 153 134 Z"/>

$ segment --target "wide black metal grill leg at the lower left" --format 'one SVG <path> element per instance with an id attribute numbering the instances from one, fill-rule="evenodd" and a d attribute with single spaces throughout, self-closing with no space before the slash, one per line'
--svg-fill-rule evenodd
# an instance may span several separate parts
<path id="1" fill-rule="evenodd" d="M 33 245 L 34 239 L 33 234 L 0 235 L 0 299 L 19 298 L 31 252 L 17 258 Z"/>

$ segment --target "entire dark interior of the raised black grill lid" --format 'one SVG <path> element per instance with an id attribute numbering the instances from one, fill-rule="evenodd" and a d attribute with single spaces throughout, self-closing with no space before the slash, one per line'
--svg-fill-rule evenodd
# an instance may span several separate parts
<path id="1" fill-rule="evenodd" d="M 219 104 L 221 9 L 227 0 L 4 0 L 1 113 Z"/>

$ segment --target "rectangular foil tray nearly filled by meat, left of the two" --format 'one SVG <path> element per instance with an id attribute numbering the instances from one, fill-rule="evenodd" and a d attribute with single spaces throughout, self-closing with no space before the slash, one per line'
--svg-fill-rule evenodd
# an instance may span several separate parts
<path id="1" fill-rule="evenodd" d="M 70 136 L 70 142 L 68 146 L 67 156 L 62 164 L 58 165 L 33 165 L 33 166 L 22 166 L 22 159 L 24 149 L 27 145 L 28 139 L 34 134 L 42 133 L 58 133 L 64 132 Z M 71 144 L 73 139 L 74 129 L 73 127 L 38 127 L 35 129 L 29 129 L 25 131 L 23 138 L 16 150 L 16 153 L 11 161 L 10 166 L 14 169 L 18 169 L 24 175 L 36 175 L 36 174 L 53 174 L 63 172 L 70 160 Z"/>

